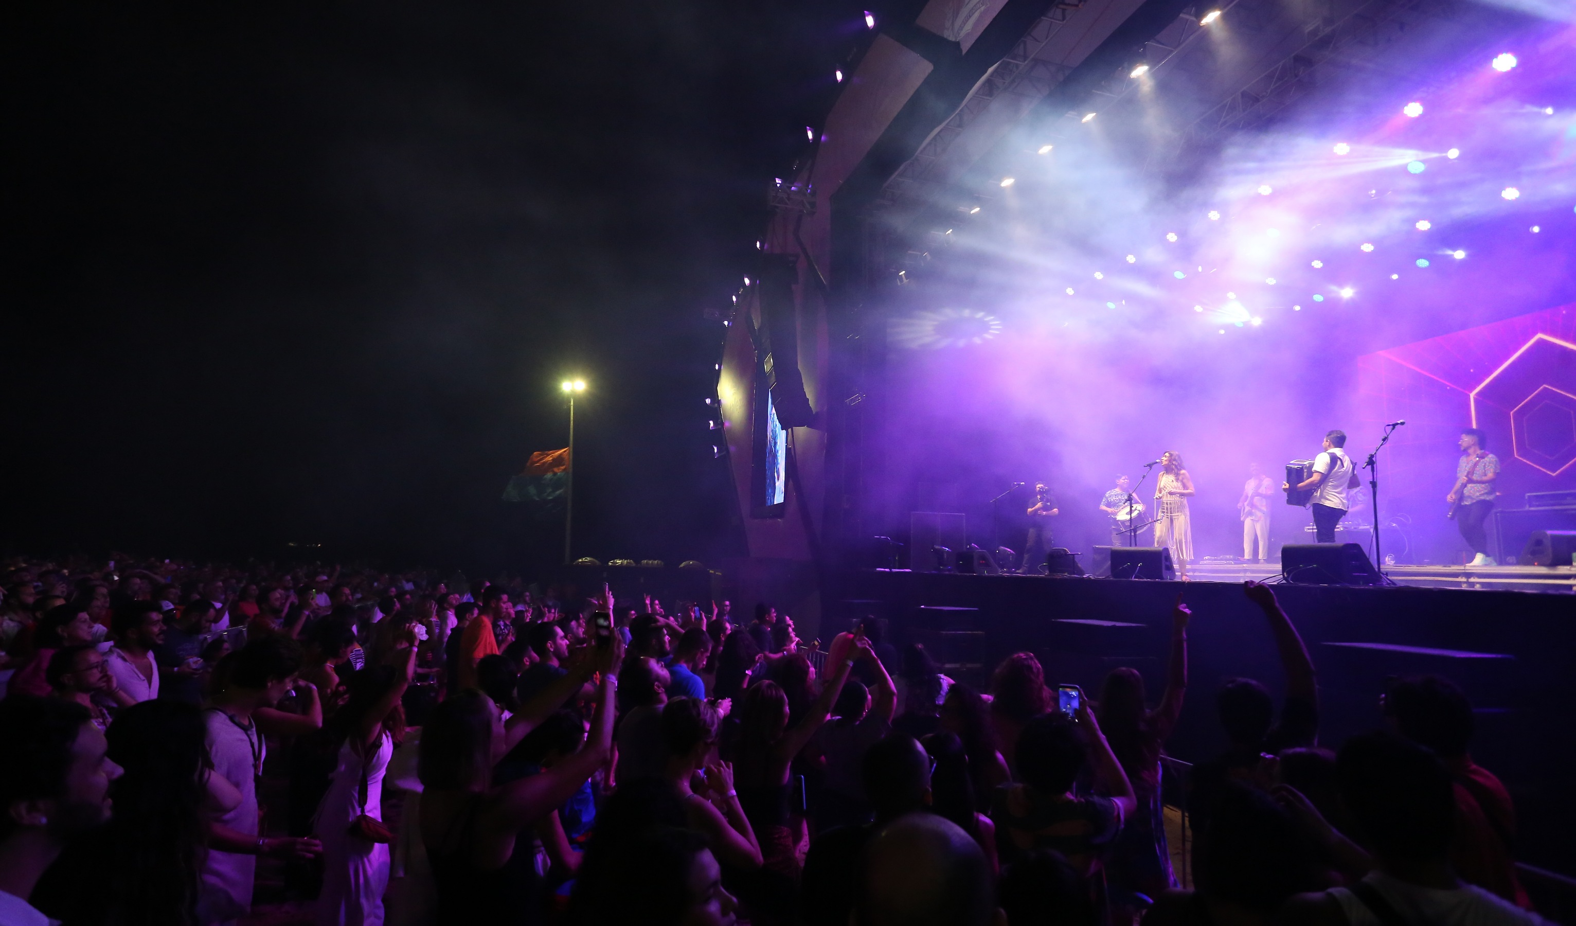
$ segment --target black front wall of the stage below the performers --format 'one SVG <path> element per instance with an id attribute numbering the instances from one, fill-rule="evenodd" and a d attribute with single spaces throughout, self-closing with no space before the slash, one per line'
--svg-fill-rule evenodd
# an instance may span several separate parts
<path id="1" fill-rule="evenodd" d="M 968 681 L 1002 656 L 1035 653 L 1046 681 L 1091 694 L 1114 666 L 1144 674 L 1150 700 L 1165 685 L 1171 604 L 1191 607 L 1190 693 L 1168 751 L 1207 759 L 1225 746 L 1214 693 L 1232 677 L 1283 678 L 1262 612 L 1229 582 L 965 576 L 849 571 L 835 577 L 827 614 L 875 614 L 892 642 L 920 640 Z M 1450 588 L 1275 585 L 1319 672 L 1321 741 L 1379 726 L 1390 675 L 1436 674 L 1477 707 L 1474 756 L 1497 773 L 1521 820 L 1522 861 L 1576 871 L 1576 598 Z M 826 625 L 827 629 L 840 629 Z M 979 666 L 974 669 L 972 666 Z"/>

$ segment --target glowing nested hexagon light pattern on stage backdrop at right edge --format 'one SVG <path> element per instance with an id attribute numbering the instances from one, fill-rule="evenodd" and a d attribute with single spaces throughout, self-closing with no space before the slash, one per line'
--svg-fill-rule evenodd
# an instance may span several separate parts
<path id="1" fill-rule="evenodd" d="M 1576 464 L 1576 394 L 1562 385 L 1576 371 L 1576 344 L 1535 334 L 1470 393 L 1472 423 L 1508 420 L 1516 459 L 1551 476 Z"/>

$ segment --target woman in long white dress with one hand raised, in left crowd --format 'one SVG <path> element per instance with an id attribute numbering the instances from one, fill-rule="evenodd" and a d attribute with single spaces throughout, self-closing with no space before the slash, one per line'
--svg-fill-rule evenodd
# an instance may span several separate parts
<path id="1" fill-rule="evenodd" d="M 405 664 L 369 666 L 350 680 L 350 696 L 328 723 L 339 740 L 339 760 L 328 793 L 317 805 L 312 831 L 323 844 L 323 890 L 317 896 L 320 926 L 378 926 L 389 883 L 389 847 L 383 827 L 383 773 L 405 737 L 400 697 L 416 669 L 416 650 Z"/>

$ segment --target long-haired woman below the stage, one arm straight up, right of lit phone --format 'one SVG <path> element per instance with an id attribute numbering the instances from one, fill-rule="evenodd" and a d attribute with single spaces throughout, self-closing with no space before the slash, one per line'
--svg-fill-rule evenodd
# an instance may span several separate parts
<path id="1" fill-rule="evenodd" d="M 1095 718 L 1111 752 L 1133 784 L 1138 811 L 1122 825 L 1106 863 L 1113 899 L 1122 904 L 1135 893 L 1149 898 L 1176 887 L 1166 850 L 1165 814 L 1160 800 L 1160 754 L 1182 715 L 1187 693 L 1187 622 L 1191 612 L 1177 595 L 1171 612 L 1171 663 L 1160 705 L 1149 710 L 1144 677 L 1136 669 L 1113 669 L 1100 686 Z"/>

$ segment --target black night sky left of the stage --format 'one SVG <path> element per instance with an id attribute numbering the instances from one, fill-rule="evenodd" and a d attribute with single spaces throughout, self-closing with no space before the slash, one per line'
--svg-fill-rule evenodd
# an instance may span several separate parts
<path id="1" fill-rule="evenodd" d="M 742 552 L 701 312 L 843 6 L 13 9 L 0 549 L 528 571 L 575 372 L 577 555 Z"/>

